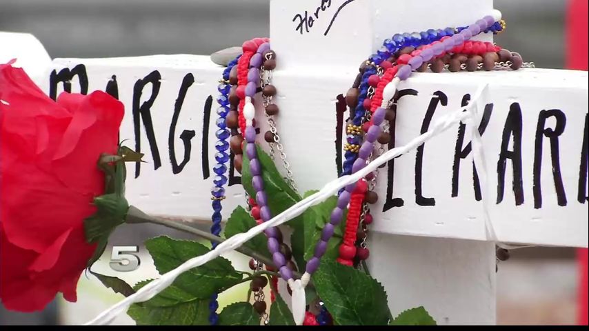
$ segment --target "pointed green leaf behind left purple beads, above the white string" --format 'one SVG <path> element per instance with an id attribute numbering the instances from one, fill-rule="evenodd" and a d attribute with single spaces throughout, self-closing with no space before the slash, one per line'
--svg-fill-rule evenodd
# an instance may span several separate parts
<path id="1" fill-rule="evenodd" d="M 268 195 L 268 207 L 272 212 L 272 216 L 280 214 L 287 210 L 295 203 L 301 201 L 301 196 L 292 190 L 292 188 L 283 179 L 280 172 L 272 159 L 264 152 L 260 146 L 256 146 L 258 151 L 258 160 L 262 168 L 262 178 L 264 181 L 264 190 Z M 246 154 L 243 154 L 243 171 L 241 174 L 241 183 L 250 197 L 255 197 L 256 192 L 252 186 L 252 173 L 250 172 L 250 160 Z M 295 217 L 288 222 L 289 225 L 295 227 L 297 223 L 302 223 L 302 217 Z"/>

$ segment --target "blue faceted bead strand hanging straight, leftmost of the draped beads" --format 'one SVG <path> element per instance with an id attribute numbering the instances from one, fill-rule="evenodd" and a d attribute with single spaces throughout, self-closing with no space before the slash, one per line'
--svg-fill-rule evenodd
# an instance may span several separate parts
<path id="1" fill-rule="evenodd" d="M 241 55 L 239 57 L 241 57 Z M 212 168 L 213 172 L 217 174 L 217 176 L 215 176 L 213 179 L 214 186 L 210 192 L 212 195 L 211 204 L 213 210 L 210 232 L 216 236 L 221 234 L 221 220 L 223 219 L 223 216 L 221 215 L 221 210 L 223 210 L 221 200 L 225 197 L 225 185 L 228 182 L 226 173 L 228 171 L 227 163 L 229 162 L 228 139 L 230 137 L 230 131 L 227 129 L 226 117 L 227 114 L 229 114 L 229 92 L 231 90 L 231 86 L 227 83 L 227 81 L 229 80 L 229 73 L 231 72 L 231 69 L 237 65 L 239 57 L 231 61 L 227 68 L 223 70 L 223 82 L 219 83 L 219 86 L 217 87 L 217 90 L 219 90 L 219 97 L 217 97 L 217 103 L 219 103 L 217 114 L 219 115 L 219 119 L 217 119 L 215 122 L 215 125 L 218 128 L 217 132 L 215 132 L 215 135 L 219 140 L 217 140 L 217 143 L 214 145 L 214 148 L 217 150 L 217 154 L 214 156 L 217 164 Z M 213 249 L 217 247 L 217 243 L 215 242 L 211 242 L 211 245 Z M 213 294 L 210 297 L 210 302 L 208 305 L 208 321 L 210 325 L 217 325 L 217 323 L 219 323 L 219 315 L 217 314 L 219 302 L 217 302 L 217 297 L 217 294 Z"/>

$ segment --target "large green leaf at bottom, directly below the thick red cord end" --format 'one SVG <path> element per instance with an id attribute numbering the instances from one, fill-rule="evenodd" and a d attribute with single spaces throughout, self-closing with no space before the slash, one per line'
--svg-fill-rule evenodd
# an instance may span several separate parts
<path id="1" fill-rule="evenodd" d="M 390 311 L 386 292 L 364 272 L 323 259 L 312 279 L 335 323 L 387 325 Z"/>

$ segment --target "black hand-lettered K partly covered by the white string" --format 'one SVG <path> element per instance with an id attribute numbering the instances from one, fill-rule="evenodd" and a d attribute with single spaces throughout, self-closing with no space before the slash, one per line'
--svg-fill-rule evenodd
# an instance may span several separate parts
<path id="1" fill-rule="evenodd" d="M 462 99 L 462 107 L 468 105 L 468 101 L 470 101 L 470 94 L 466 94 Z M 479 134 L 481 136 L 487 130 L 487 126 L 489 124 L 491 114 L 493 112 L 493 104 L 489 103 L 485 106 L 485 110 L 483 112 L 483 118 L 481 119 L 481 123 L 479 124 Z M 468 143 L 465 148 L 462 148 L 464 144 L 464 136 L 466 134 L 466 124 L 461 123 L 458 129 L 458 138 L 456 139 L 456 148 L 454 152 L 454 165 L 452 166 L 452 197 L 458 197 L 458 188 L 459 188 L 459 175 L 460 175 L 460 162 L 463 159 L 466 159 L 470 152 L 472 151 L 472 143 Z M 475 161 L 472 161 L 472 185 L 475 189 L 475 199 L 477 201 L 481 201 L 483 199 L 481 195 L 481 183 L 479 182 L 479 173 L 477 172 L 477 167 L 475 165 Z"/>

